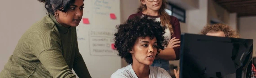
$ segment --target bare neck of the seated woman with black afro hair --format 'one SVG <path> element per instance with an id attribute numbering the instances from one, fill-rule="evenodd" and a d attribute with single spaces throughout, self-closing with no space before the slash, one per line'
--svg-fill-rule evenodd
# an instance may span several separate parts
<path id="1" fill-rule="evenodd" d="M 149 65 L 133 62 L 132 68 L 138 78 L 149 78 Z"/>

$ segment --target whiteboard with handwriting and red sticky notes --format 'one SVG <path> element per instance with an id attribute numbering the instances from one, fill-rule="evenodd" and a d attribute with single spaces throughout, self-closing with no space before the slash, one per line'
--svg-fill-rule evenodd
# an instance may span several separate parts
<path id="1" fill-rule="evenodd" d="M 110 78 L 121 68 L 121 58 L 112 49 L 120 24 L 120 0 L 85 0 L 84 4 L 83 19 L 76 27 L 79 51 L 92 78 Z"/>

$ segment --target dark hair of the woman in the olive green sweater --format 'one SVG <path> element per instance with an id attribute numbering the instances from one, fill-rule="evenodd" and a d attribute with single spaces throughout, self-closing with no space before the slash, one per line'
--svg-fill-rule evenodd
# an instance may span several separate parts
<path id="1" fill-rule="evenodd" d="M 67 12 L 72 4 L 75 3 L 75 0 L 38 0 L 41 3 L 45 3 L 45 9 L 48 14 L 51 13 L 54 15 L 54 12 L 60 10 L 62 12 Z M 83 0 L 84 1 L 84 0 Z"/>

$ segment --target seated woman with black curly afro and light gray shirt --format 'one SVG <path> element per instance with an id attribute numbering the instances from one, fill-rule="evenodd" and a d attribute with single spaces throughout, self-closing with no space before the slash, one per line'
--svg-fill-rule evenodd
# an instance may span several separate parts
<path id="1" fill-rule="evenodd" d="M 117 26 L 115 48 L 128 66 L 118 69 L 111 78 L 171 78 L 167 71 L 151 66 L 167 45 L 165 27 L 155 19 L 134 17 Z"/>

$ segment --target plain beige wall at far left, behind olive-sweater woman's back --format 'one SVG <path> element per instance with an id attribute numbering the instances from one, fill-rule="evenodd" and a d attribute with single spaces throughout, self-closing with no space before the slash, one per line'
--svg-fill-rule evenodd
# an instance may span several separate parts
<path id="1" fill-rule="evenodd" d="M 37 0 L 0 0 L 0 71 L 12 55 L 21 35 L 46 15 Z"/>

